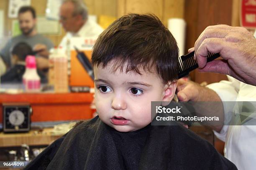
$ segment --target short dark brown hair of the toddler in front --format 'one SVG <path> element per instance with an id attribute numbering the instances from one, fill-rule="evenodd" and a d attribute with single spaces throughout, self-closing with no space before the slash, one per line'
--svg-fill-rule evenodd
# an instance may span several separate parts
<path id="1" fill-rule="evenodd" d="M 106 67 L 116 60 L 113 71 L 157 72 L 164 83 L 177 79 L 179 49 L 171 32 L 155 15 L 129 14 L 115 20 L 98 37 L 92 65 Z"/>

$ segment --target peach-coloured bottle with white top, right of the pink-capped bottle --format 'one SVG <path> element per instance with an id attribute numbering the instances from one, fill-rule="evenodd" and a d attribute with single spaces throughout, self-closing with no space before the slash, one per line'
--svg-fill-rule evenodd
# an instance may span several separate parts
<path id="1" fill-rule="evenodd" d="M 54 54 L 54 91 L 57 93 L 69 92 L 67 55 L 62 47 L 58 47 Z"/>

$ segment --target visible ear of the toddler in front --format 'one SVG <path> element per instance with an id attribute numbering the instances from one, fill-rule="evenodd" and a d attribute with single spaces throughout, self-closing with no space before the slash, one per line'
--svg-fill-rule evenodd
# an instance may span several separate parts
<path id="1" fill-rule="evenodd" d="M 172 101 L 175 91 L 177 87 L 177 81 L 168 82 L 168 85 L 166 84 L 164 86 L 164 97 L 162 99 L 162 106 L 169 105 L 169 103 Z"/>

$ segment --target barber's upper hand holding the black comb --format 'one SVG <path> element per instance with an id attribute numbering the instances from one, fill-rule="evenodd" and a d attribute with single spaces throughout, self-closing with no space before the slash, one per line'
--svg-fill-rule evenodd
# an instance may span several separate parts
<path id="1" fill-rule="evenodd" d="M 256 39 L 242 27 L 214 25 L 207 27 L 195 42 L 200 72 L 230 75 L 242 82 L 256 85 Z M 206 63 L 207 54 L 220 53 L 223 60 Z"/>

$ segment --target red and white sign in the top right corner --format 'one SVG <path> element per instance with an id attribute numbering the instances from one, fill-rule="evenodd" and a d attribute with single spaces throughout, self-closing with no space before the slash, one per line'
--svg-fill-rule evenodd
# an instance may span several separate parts
<path id="1" fill-rule="evenodd" d="M 240 24 L 245 28 L 256 28 L 256 0 L 241 0 Z"/>

